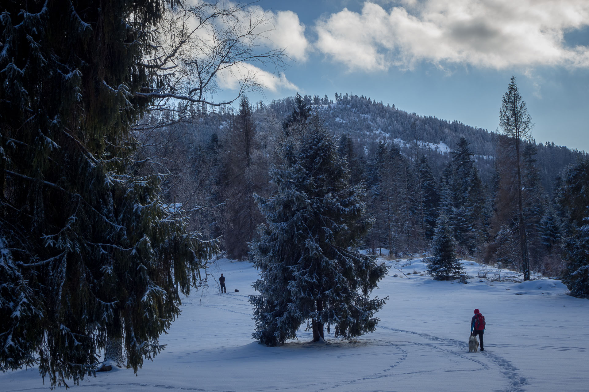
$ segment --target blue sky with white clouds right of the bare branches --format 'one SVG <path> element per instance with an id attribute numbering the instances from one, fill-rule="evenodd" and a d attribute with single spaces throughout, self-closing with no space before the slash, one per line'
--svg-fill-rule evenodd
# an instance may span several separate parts
<path id="1" fill-rule="evenodd" d="M 540 142 L 589 151 L 589 1 L 256 2 L 291 61 L 264 100 L 355 93 L 488 130 L 515 75 Z M 259 100 L 252 96 L 252 100 Z"/>

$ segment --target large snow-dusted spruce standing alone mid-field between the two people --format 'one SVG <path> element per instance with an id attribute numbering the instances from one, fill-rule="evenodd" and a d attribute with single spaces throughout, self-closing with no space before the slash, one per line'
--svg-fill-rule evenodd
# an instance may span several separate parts
<path id="1" fill-rule="evenodd" d="M 386 274 L 385 264 L 353 251 L 370 226 L 364 217 L 363 185 L 352 186 L 334 136 L 311 120 L 299 142 L 283 145 L 283 164 L 272 169 L 278 188 L 269 199 L 258 197 L 266 225 L 250 244 L 260 279 L 251 296 L 254 339 L 268 346 L 296 339 L 307 321 L 313 341 L 323 341 L 323 327 L 335 336 L 360 336 L 375 330 L 374 316 L 385 299 L 369 293 Z M 307 324 L 309 326 L 309 324 Z"/>

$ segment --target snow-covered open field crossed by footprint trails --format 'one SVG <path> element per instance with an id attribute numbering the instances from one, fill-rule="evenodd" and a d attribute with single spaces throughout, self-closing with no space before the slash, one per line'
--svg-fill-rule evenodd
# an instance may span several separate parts
<path id="1" fill-rule="evenodd" d="M 211 286 L 183 301 L 167 348 L 132 370 L 98 373 L 80 391 L 587 391 L 589 301 L 565 294 L 558 280 L 489 282 L 465 262 L 469 284 L 420 275 L 421 260 L 386 262 L 395 269 L 373 294 L 389 296 L 378 329 L 354 341 L 306 344 L 310 331 L 283 347 L 251 338 L 257 273 L 247 262 L 219 260 L 227 294 Z M 413 272 L 417 272 L 413 274 Z M 497 270 L 489 271 L 488 277 Z M 393 276 L 398 274 L 398 277 Z M 503 274 L 503 273 L 502 273 Z M 234 292 L 239 289 L 239 292 Z M 470 321 L 487 320 L 485 351 L 468 353 Z M 62 390 L 63 388 L 58 388 Z M 0 374 L 1 391 L 49 390 L 36 368 Z"/>

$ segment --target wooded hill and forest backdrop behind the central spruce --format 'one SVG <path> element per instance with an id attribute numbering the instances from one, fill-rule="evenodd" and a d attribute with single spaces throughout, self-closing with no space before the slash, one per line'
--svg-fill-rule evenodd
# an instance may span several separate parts
<path id="1" fill-rule="evenodd" d="M 277 149 L 304 134 L 316 116 L 338 138 L 350 182 L 366 188 L 373 225 L 364 246 L 425 252 L 443 212 L 460 255 L 519 269 L 514 166 L 509 149 L 498 148 L 505 136 L 363 96 L 335 98 L 297 95 L 267 105 L 242 98 L 238 110 L 211 112 L 194 107 L 192 118 L 155 132 L 165 142 L 148 142 L 144 152 L 161 155 L 158 165 L 170 171 L 168 197 L 193 216 L 192 224 L 220 237 L 229 256 L 247 259 L 247 243 L 263 223 L 254 194 L 272 196 L 268 170 L 281 162 Z M 562 170 L 585 154 L 533 139 L 521 149 L 532 269 L 558 275 L 565 262 L 557 237 L 566 231 L 567 215 L 558 202 Z"/>

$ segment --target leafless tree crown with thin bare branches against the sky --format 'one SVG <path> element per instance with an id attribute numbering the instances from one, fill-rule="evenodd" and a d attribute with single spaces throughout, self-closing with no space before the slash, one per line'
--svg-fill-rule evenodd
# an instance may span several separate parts
<path id="1" fill-rule="evenodd" d="M 151 111 L 173 110 L 180 101 L 181 108 L 191 103 L 206 113 L 209 106 L 229 105 L 243 94 L 262 89 L 257 67 L 277 71 L 286 58 L 282 49 L 269 50 L 262 43 L 273 28 L 269 14 L 247 4 L 191 5 L 180 0 L 167 10 L 151 56 L 145 59 L 145 66 L 156 69 L 160 79 L 135 95 L 154 99 Z M 233 98 L 214 100 L 219 78 L 236 87 Z M 177 115 L 184 113 L 176 110 Z"/>

